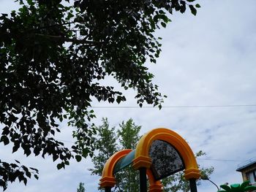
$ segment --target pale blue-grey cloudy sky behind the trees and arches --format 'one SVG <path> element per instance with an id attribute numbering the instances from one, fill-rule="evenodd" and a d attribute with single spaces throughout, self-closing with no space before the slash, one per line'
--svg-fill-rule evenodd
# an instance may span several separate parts
<path id="1" fill-rule="evenodd" d="M 194 152 L 203 150 L 201 166 L 214 166 L 211 180 L 217 185 L 241 183 L 238 164 L 256 157 L 256 107 L 186 107 L 256 104 L 256 1 L 198 1 L 197 16 L 187 12 L 171 15 L 172 23 L 157 31 L 162 37 L 162 54 L 157 64 L 148 64 L 159 91 L 168 97 L 164 108 L 95 108 L 99 125 L 108 117 L 111 126 L 132 118 L 142 126 L 140 134 L 152 128 L 176 131 L 189 142 Z M 17 6 L 16 6 L 17 7 Z M 0 0 L 0 12 L 10 12 L 15 4 Z M 111 81 L 112 83 L 112 81 Z M 128 101 L 120 106 L 136 106 L 135 93 L 127 91 Z M 93 103 L 94 107 L 109 106 Z M 72 145 L 71 131 L 61 125 L 57 138 Z M 12 146 L 0 144 L 2 161 L 20 160 L 39 169 L 39 180 L 9 185 L 7 192 L 76 191 L 80 182 L 86 191 L 97 191 L 99 177 L 93 177 L 89 159 L 57 170 L 51 158 L 29 158 L 20 152 L 12 154 Z M 217 191 L 202 181 L 198 191 Z"/>

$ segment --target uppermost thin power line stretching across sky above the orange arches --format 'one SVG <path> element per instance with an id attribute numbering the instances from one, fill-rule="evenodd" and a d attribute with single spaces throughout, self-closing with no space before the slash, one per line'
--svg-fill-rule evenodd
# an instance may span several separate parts
<path id="1" fill-rule="evenodd" d="M 184 106 L 162 106 L 162 108 L 209 108 L 209 107 L 256 107 L 256 104 L 226 104 L 226 105 L 184 105 Z M 101 109 L 135 109 L 135 108 L 154 108 L 152 106 L 92 106 L 91 108 Z"/>

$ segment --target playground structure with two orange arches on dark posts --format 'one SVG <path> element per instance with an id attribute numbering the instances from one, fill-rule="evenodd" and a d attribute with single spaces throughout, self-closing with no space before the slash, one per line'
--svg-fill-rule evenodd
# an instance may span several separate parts
<path id="1" fill-rule="evenodd" d="M 190 191 L 197 192 L 195 181 L 200 177 L 195 155 L 187 142 L 167 128 L 155 128 L 140 138 L 136 149 L 121 150 L 105 163 L 99 185 L 110 192 L 116 185 L 116 172 L 132 164 L 140 172 L 140 192 L 161 192 L 165 177 L 184 170 Z M 149 180 L 147 189 L 146 180 Z"/>

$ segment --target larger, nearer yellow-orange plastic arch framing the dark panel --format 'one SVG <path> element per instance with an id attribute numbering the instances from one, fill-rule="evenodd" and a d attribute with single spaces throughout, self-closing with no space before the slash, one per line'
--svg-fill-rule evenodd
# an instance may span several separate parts
<path id="1" fill-rule="evenodd" d="M 135 159 L 133 160 L 135 169 L 139 169 L 140 167 L 149 168 L 151 166 L 151 158 L 148 152 L 154 140 L 168 142 L 178 150 L 178 153 L 184 161 L 184 177 L 186 180 L 198 179 L 200 177 L 195 155 L 187 142 L 180 135 L 176 134 L 176 132 L 167 128 L 155 128 L 140 138 L 135 150 Z"/>

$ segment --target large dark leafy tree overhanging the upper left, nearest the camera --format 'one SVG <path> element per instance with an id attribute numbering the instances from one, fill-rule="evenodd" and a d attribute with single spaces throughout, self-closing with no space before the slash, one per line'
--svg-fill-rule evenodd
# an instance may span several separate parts
<path id="1" fill-rule="evenodd" d="M 154 31 L 170 22 L 168 13 L 189 7 L 196 15 L 200 7 L 195 0 L 16 1 L 18 11 L 0 16 L 0 142 L 11 142 L 13 153 L 51 155 L 58 169 L 70 158 L 93 155 L 91 99 L 126 100 L 99 80 L 113 76 L 122 88 L 137 91 L 140 107 L 146 101 L 161 108 L 162 95 L 145 66 L 146 60 L 156 63 L 161 51 Z M 54 137 L 64 119 L 76 128 L 72 150 Z M 1 162 L 10 173 L 0 177 L 4 189 L 8 181 L 29 177 Z"/>

